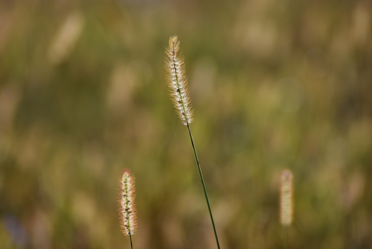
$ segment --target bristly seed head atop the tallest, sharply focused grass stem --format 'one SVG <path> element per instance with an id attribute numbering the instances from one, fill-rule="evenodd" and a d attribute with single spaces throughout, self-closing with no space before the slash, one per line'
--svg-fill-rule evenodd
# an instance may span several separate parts
<path id="1" fill-rule="evenodd" d="M 177 36 L 171 36 L 169 38 L 169 46 L 165 51 L 167 57 L 164 60 L 164 68 L 166 69 L 166 80 L 173 105 L 182 123 L 187 125 L 193 121 L 192 107 L 189 86 L 185 76 L 184 58 L 182 55 L 177 56 L 179 46 L 180 42 Z"/>

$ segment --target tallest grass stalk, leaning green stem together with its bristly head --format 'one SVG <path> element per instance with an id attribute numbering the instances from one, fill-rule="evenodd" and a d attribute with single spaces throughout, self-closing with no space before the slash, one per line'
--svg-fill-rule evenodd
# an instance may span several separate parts
<path id="1" fill-rule="evenodd" d="M 189 131 L 192 149 L 194 151 L 194 156 L 196 160 L 196 166 L 198 166 L 200 180 L 203 185 L 205 200 L 208 205 L 209 216 L 211 216 L 217 247 L 218 249 L 220 249 L 216 226 L 213 220 L 211 205 L 209 204 L 209 199 L 205 188 L 202 170 L 200 168 L 198 155 L 196 154 L 195 144 L 190 129 L 190 123 L 193 121 L 192 117 L 193 111 L 191 107 L 191 99 L 189 93 L 189 86 L 187 84 L 187 77 L 185 76 L 184 58 L 182 55 L 177 55 L 177 52 L 179 51 L 179 44 L 180 42 L 178 41 L 177 36 L 171 36 L 169 38 L 169 46 L 166 48 L 165 51 L 167 57 L 164 60 L 165 62 L 164 67 L 166 69 L 166 79 L 170 90 L 171 100 L 173 102 L 174 107 L 176 108 L 176 112 L 179 115 L 182 123 L 187 126 L 187 130 Z"/>

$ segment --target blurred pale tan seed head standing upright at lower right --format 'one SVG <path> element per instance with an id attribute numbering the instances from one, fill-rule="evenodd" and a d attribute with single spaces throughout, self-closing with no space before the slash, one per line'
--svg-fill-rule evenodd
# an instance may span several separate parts
<path id="1" fill-rule="evenodd" d="M 280 186 L 280 222 L 283 226 L 292 223 L 293 214 L 293 175 L 291 170 L 285 169 L 281 176 Z"/>

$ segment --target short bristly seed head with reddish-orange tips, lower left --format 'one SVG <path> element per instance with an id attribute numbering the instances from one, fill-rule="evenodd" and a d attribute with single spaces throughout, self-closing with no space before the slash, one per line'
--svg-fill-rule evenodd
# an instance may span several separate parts
<path id="1" fill-rule="evenodd" d="M 134 176 L 125 169 L 119 179 L 118 200 L 120 227 L 125 235 L 133 234 L 137 227 L 134 197 Z"/>

